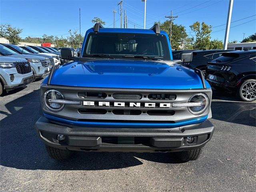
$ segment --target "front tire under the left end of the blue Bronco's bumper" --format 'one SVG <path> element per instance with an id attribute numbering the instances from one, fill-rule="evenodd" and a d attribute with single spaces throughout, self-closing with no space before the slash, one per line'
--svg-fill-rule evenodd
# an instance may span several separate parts
<path id="1" fill-rule="evenodd" d="M 45 146 L 48 155 L 56 160 L 67 160 L 72 156 L 73 152 L 67 149 L 58 149 L 50 146 Z"/>

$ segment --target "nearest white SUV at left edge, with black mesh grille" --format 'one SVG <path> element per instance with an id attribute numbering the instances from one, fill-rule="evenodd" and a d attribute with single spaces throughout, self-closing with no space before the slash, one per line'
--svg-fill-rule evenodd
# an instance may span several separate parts
<path id="1" fill-rule="evenodd" d="M 0 56 L 0 95 L 6 90 L 24 87 L 34 81 L 26 59 Z"/>

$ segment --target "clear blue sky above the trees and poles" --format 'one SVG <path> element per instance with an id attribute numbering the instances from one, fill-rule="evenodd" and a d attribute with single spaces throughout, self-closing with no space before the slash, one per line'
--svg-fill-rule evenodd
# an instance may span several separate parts
<path id="1" fill-rule="evenodd" d="M 23 29 L 22 38 L 43 34 L 68 36 L 68 30 L 79 28 L 79 8 L 81 8 L 81 32 L 92 27 L 92 18 L 99 17 L 106 22 L 105 27 L 113 27 L 113 9 L 118 10 L 119 0 L 0 0 L 0 23 L 10 23 Z M 178 16 L 174 21 L 186 27 L 196 21 L 212 25 L 212 39 L 224 40 L 229 0 L 147 0 L 146 27 L 154 21 L 166 20 L 164 16 Z M 144 2 L 124 0 L 128 28 L 142 28 L 144 22 Z M 256 0 L 234 0 L 229 40 L 243 39 L 256 32 Z M 252 16 L 252 17 L 250 17 Z M 249 18 L 246 18 L 249 17 Z M 116 20 L 120 15 L 116 13 Z M 246 19 L 243 19 L 246 18 Z M 242 20 L 240 20 L 242 19 Z M 239 21 L 237 21 L 239 20 Z M 234 22 L 235 21 L 235 22 Z M 219 26 L 222 25 L 222 26 Z M 120 20 L 116 21 L 120 27 Z M 218 27 L 216 27 L 218 26 Z"/>

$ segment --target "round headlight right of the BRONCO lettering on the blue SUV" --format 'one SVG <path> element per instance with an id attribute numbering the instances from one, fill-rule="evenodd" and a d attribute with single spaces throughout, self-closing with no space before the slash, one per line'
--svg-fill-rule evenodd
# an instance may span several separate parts
<path id="1" fill-rule="evenodd" d="M 195 114 L 195 115 L 199 115 L 199 114 L 202 114 L 208 107 L 209 105 L 209 99 L 208 97 L 205 95 L 205 94 L 202 94 L 202 93 L 197 93 L 197 94 L 194 94 L 190 99 L 189 101 L 190 103 L 193 103 L 193 102 L 197 102 L 197 103 L 201 103 L 200 106 L 191 106 L 191 107 L 188 107 L 188 110 L 192 113 L 192 114 Z"/>

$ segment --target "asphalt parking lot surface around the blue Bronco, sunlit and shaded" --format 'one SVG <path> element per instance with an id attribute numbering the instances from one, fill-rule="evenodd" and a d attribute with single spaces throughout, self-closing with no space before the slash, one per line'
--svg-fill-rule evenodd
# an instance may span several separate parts
<path id="1" fill-rule="evenodd" d="M 58 162 L 34 124 L 42 80 L 0 97 L 0 191 L 254 191 L 256 103 L 213 90 L 216 129 L 196 161 L 171 153 L 86 153 Z"/>

